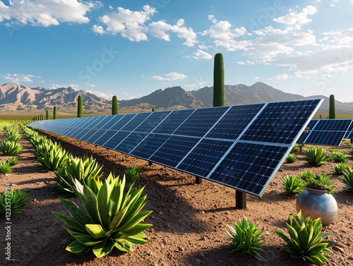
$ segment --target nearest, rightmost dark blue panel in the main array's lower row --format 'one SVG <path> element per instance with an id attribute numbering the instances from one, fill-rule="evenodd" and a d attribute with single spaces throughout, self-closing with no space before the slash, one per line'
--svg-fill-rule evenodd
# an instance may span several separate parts
<path id="1" fill-rule="evenodd" d="M 237 143 L 209 179 L 259 195 L 287 150 L 275 145 Z"/>

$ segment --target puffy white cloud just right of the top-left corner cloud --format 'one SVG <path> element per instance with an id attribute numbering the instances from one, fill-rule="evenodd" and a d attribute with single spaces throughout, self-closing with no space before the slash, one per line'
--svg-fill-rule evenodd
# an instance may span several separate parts
<path id="1" fill-rule="evenodd" d="M 146 41 L 148 40 L 148 27 L 145 23 L 150 20 L 150 17 L 156 12 L 155 8 L 143 6 L 143 11 L 130 11 L 122 7 L 116 11 L 107 13 L 99 18 L 100 22 L 106 26 L 103 30 L 102 26 L 94 25 L 92 30 L 97 33 L 110 33 L 112 35 L 120 34 L 122 37 L 131 41 Z"/>

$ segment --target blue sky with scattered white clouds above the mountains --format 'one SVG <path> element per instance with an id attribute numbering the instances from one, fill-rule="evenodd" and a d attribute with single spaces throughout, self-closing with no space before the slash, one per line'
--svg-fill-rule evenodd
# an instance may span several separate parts
<path id="1" fill-rule="evenodd" d="M 353 102 L 353 0 L 0 0 L 0 84 L 132 99 L 263 82 Z"/>

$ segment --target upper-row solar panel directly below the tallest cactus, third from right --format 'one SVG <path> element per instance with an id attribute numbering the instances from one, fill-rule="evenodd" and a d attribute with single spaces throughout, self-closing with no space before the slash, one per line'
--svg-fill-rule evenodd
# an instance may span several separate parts
<path id="1" fill-rule="evenodd" d="M 228 109 L 229 107 L 196 109 L 173 134 L 203 137 Z"/>

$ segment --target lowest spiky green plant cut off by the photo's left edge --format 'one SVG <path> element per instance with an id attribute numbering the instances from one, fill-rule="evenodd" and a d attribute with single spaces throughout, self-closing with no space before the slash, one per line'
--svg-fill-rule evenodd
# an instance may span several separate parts
<path id="1" fill-rule="evenodd" d="M 0 216 L 6 214 L 6 209 L 10 209 L 11 214 L 20 213 L 28 202 L 30 202 L 30 195 L 25 191 L 8 189 L 0 194 Z"/>

